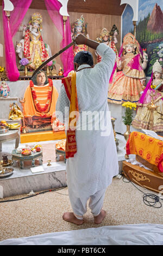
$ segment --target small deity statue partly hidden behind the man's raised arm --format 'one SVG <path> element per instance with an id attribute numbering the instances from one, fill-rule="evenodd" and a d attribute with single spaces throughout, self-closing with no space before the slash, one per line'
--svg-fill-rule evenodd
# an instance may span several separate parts
<path id="1" fill-rule="evenodd" d="M 104 44 L 110 46 L 112 48 L 112 50 L 115 51 L 116 56 L 118 56 L 118 52 L 117 52 L 117 48 L 116 48 L 116 44 L 117 44 L 117 38 L 116 36 L 118 35 L 118 29 L 116 27 L 116 25 L 113 25 L 111 28 L 111 31 L 109 32 L 108 29 L 103 28 L 101 31 L 101 34 L 99 36 L 99 38 L 96 38 L 97 42 L 104 42 Z M 99 54 L 97 53 L 97 51 L 95 51 L 95 54 L 97 56 L 97 63 L 101 62 L 101 56 L 99 56 Z"/>

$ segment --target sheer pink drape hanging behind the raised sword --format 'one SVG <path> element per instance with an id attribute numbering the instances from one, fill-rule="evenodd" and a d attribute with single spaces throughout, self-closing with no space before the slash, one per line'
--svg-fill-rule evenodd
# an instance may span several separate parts
<path id="1" fill-rule="evenodd" d="M 48 14 L 51 17 L 55 27 L 57 27 L 59 33 L 62 35 L 62 41 L 60 48 L 64 48 L 66 45 L 72 42 L 71 39 L 71 27 L 69 17 L 67 17 L 66 21 L 66 31 L 64 34 L 64 25 L 62 16 L 59 13 L 61 8 L 61 4 L 57 0 L 45 0 L 46 8 L 48 10 Z M 55 36 L 55 35 L 53 35 Z M 60 50 L 60 49 L 59 49 Z M 72 46 L 68 48 L 65 52 L 60 55 L 61 62 L 64 68 L 64 76 L 67 76 L 68 72 L 74 69 L 73 66 L 73 48 Z"/>

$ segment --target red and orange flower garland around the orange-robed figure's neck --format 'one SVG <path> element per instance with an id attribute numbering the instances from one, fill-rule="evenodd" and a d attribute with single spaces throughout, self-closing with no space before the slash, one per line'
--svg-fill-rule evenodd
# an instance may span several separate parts
<path id="1" fill-rule="evenodd" d="M 34 83 L 33 83 L 32 80 L 30 81 L 30 89 L 31 89 L 31 93 L 32 93 L 32 96 L 33 96 L 35 108 L 36 108 L 37 111 L 39 111 L 41 113 L 48 112 L 49 111 L 49 105 L 51 105 L 53 82 L 50 79 L 48 81 L 49 81 L 49 92 L 48 92 L 48 95 L 47 95 L 47 102 L 46 102 L 44 107 L 40 106 L 40 103 L 37 100 L 36 92 L 34 90 Z M 47 109 L 48 109 L 48 111 L 47 111 Z"/>

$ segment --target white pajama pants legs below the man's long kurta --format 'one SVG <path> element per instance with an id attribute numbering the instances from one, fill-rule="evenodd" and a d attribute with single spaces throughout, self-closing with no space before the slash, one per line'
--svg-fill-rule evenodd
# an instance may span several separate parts
<path id="1" fill-rule="evenodd" d="M 100 190 L 97 191 L 95 194 L 87 197 L 76 197 L 76 194 L 71 191 L 71 189 L 68 188 L 70 203 L 72 206 L 73 214 L 79 219 L 83 220 L 83 215 L 87 211 L 87 200 L 89 201 L 89 208 L 91 209 L 91 212 L 94 217 L 98 216 L 102 210 L 104 197 L 105 197 L 105 191 Z"/>

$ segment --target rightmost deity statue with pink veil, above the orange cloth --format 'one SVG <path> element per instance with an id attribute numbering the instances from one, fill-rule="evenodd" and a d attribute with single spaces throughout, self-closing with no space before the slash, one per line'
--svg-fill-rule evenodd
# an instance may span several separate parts
<path id="1" fill-rule="evenodd" d="M 153 124 L 150 122 L 151 112 L 148 110 L 151 101 L 157 106 L 153 111 Z M 163 131 L 163 72 L 158 60 L 153 65 L 151 79 L 136 105 L 139 107 L 132 123 L 136 129 Z"/>

